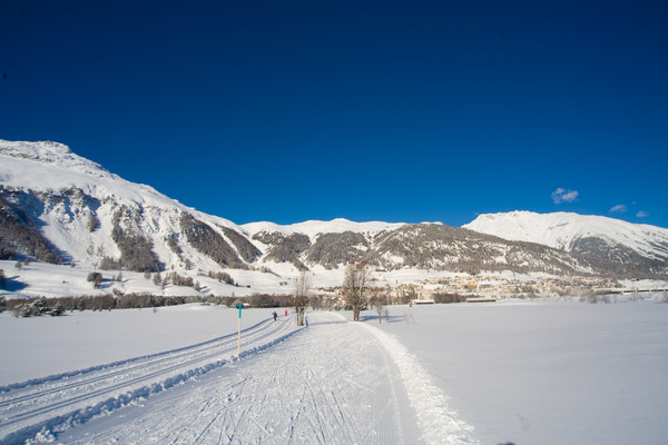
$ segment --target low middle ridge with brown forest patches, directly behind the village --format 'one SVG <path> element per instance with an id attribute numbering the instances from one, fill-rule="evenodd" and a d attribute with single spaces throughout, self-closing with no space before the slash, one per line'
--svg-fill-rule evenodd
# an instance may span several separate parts
<path id="1" fill-rule="evenodd" d="M 259 241 L 264 260 L 305 270 L 326 270 L 365 261 L 377 270 L 423 269 L 590 274 L 587 261 L 547 246 L 509 241 L 441 222 L 389 224 L 307 221 L 292 226 L 243 226 Z"/>

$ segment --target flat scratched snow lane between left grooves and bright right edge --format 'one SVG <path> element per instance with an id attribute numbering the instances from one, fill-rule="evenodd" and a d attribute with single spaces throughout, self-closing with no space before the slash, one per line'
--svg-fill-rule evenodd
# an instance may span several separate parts
<path id="1" fill-rule="evenodd" d="M 308 328 L 291 342 L 146 400 L 126 413 L 125 422 L 119 412 L 62 438 L 75 444 L 420 444 L 405 390 L 375 338 L 335 314 L 310 318 Z"/>

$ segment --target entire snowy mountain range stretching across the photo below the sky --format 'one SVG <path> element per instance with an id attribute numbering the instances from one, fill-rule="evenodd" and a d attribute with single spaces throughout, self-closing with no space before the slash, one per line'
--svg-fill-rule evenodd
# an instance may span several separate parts
<path id="1" fill-rule="evenodd" d="M 668 274 L 668 230 L 651 226 L 529 212 L 485 215 L 464 228 L 345 219 L 239 226 L 56 142 L 0 140 L 0 260 L 206 275 L 249 291 L 289 291 L 279 286 L 306 269 L 341 283 L 343 267 L 361 260 L 385 271 Z M 205 291 L 232 291 L 214 287 Z"/>

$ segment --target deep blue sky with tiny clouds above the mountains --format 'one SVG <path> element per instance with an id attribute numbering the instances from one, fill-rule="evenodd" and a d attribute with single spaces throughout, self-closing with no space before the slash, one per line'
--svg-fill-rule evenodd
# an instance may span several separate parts
<path id="1" fill-rule="evenodd" d="M 244 224 L 668 227 L 665 1 L 0 2 L 0 138 Z"/>

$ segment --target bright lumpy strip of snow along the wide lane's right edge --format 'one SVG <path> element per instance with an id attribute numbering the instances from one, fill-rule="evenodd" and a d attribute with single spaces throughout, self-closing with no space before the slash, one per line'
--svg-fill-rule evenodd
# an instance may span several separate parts
<path id="1" fill-rule="evenodd" d="M 364 323 L 361 325 L 379 339 L 396 364 L 415 411 L 422 439 L 434 445 L 480 444 L 472 436 L 473 427 L 460 419 L 456 411 L 448 405 L 448 396 L 432 384 L 431 376 L 419 359 L 392 335 Z"/>

